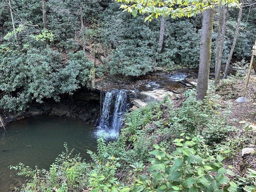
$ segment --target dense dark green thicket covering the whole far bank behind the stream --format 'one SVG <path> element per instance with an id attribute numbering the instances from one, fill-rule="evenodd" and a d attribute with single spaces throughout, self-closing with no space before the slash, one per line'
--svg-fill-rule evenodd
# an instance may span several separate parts
<path id="1" fill-rule="evenodd" d="M 121 12 L 116 2 L 81 0 L 80 5 L 74 0 L 49 0 L 46 2 L 46 31 L 42 30 L 41 2 L 10 2 L 15 31 L 12 31 L 10 9 L 0 6 L 1 108 L 23 111 L 28 102 L 42 102 L 44 98 L 57 101 L 60 94 L 72 94 L 90 80 L 88 71 L 92 63 L 87 57 L 92 55 L 101 61 L 96 66 L 96 76 L 105 72 L 140 76 L 154 70 L 198 67 L 202 15 L 189 19 L 167 18 L 163 49 L 158 53 L 160 19 L 144 22 L 145 15 L 138 14 L 134 18 Z M 1 0 L 0 4 L 6 5 L 6 1 Z M 218 13 L 216 9 L 212 63 Z M 234 52 L 239 60 L 251 54 L 256 34 L 254 13 L 254 8 L 244 7 Z M 229 11 L 223 62 L 233 41 L 237 14 L 235 8 Z M 84 28 L 81 28 L 81 17 Z M 38 28 L 26 24 L 38 25 Z M 82 58 L 83 36 L 89 48 Z M 46 37 L 50 40 L 47 47 L 44 45 Z"/>

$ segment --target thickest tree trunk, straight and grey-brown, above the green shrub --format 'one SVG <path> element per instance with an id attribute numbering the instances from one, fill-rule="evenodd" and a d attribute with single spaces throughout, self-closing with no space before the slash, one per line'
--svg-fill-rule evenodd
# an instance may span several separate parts
<path id="1" fill-rule="evenodd" d="M 197 81 L 197 100 L 202 100 L 207 94 L 211 63 L 213 9 L 203 12 L 203 26 L 200 45 L 199 71 Z"/>

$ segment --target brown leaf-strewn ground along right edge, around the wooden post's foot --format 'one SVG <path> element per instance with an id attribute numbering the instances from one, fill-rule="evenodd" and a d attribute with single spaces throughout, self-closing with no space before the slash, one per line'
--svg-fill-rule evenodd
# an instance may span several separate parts
<path id="1" fill-rule="evenodd" d="M 245 131 L 244 123 L 240 121 L 246 121 L 249 125 L 256 125 L 256 75 L 251 75 L 249 84 L 247 87 L 245 97 L 249 99 L 249 102 L 236 102 L 235 99 L 243 95 L 246 76 L 242 79 L 230 79 L 226 82 L 222 81 L 217 94 L 221 95 L 221 99 L 224 103 L 228 103 L 230 106 L 230 115 L 228 121 L 231 126 L 236 127 L 236 132 L 232 132 L 223 141 L 223 145 L 226 147 L 233 147 L 227 144 L 232 140 L 237 145 L 236 152 L 230 156 L 230 158 L 224 160 L 224 167 L 232 165 L 232 171 L 235 174 L 244 176 L 246 174 L 246 168 L 256 169 L 256 154 L 244 155 L 242 157 L 243 148 L 255 148 L 256 149 L 256 133 L 251 130 Z M 231 144 L 232 145 L 232 144 Z"/>

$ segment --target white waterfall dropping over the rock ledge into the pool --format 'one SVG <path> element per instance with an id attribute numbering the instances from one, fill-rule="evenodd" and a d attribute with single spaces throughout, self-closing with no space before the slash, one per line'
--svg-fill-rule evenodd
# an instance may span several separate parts
<path id="1" fill-rule="evenodd" d="M 107 92 L 100 115 L 100 124 L 97 130 L 97 136 L 101 134 L 106 138 L 115 138 L 119 134 L 119 129 L 122 126 L 122 115 L 127 108 L 127 95 L 120 91 L 117 94 Z"/>

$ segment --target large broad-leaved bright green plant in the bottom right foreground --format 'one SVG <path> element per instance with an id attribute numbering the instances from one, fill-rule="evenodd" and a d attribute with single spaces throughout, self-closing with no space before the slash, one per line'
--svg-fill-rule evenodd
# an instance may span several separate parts
<path id="1" fill-rule="evenodd" d="M 165 148 L 154 145 L 155 150 L 150 154 L 154 155 L 155 158 L 149 159 L 152 164 L 148 168 L 148 172 L 151 172 L 150 178 L 137 180 L 135 186 L 138 187 L 135 190 L 214 192 L 223 191 L 219 189 L 221 185 L 229 184 L 227 191 L 236 191 L 236 184 L 234 182 L 229 183 L 229 178 L 225 175 L 234 175 L 234 173 L 222 167 L 223 157 L 208 156 L 204 159 L 200 157 L 198 152 L 202 149 L 198 146 L 199 143 L 196 143 L 198 139 L 200 137 L 187 141 L 184 139 L 173 140 L 173 144 L 177 148 L 172 154 L 168 154 Z M 210 172 L 217 172 L 217 175 Z"/>

